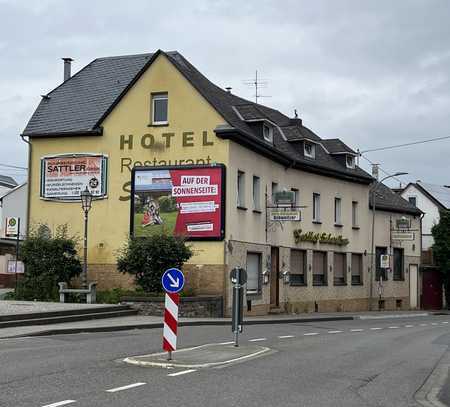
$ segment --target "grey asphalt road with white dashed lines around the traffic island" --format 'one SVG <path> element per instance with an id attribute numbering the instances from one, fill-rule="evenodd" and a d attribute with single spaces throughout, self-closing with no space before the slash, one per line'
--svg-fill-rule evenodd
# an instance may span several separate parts
<path id="1" fill-rule="evenodd" d="M 228 327 L 185 327 L 179 347 L 232 340 Z M 125 364 L 158 352 L 161 330 L 0 341 L 0 406 L 415 406 L 450 345 L 450 317 L 245 327 L 273 352 L 221 368 Z M 256 341 L 255 341 L 256 340 Z"/>

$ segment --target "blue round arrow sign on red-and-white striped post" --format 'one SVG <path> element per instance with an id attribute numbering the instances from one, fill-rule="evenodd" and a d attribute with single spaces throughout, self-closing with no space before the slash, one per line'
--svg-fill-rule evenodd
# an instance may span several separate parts
<path id="1" fill-rule="evenodd" d="M 172 360 L 172 351 L 177 349 L 179 292 L 184 287 L 184 275 L 181 270 L 171 268 L 164 272 L 161 280 L 166 292 L 163 350 L 167 351 L 167 360 Z"/>

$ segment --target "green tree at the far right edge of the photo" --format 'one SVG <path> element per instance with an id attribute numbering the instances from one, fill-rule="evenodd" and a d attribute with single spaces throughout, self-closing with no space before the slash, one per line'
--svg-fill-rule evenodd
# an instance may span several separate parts
<path id="1" fill-rule="evenodd" d="M 450 210 L 440 211 L 439 223 L 431 229 L 433 258 L 443 274 L 445 299 L 450 309 Z"/>

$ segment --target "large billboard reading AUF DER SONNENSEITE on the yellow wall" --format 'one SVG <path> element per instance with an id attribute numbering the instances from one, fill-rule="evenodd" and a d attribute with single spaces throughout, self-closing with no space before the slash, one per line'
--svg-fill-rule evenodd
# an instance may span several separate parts
<path id="1" fill-rule="evenodd" d="M 131 234 L 222 240 L 225 166 L 135 167 L 131 181 Z"/>

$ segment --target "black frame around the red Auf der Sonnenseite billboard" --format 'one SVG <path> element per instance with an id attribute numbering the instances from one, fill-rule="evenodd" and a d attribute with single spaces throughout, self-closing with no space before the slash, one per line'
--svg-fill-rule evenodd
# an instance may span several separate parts
<path id="1" fill-rule="evenodd" d="M 134 237 L 134 195 L 136 172 L 155 171 L 155 170 L 195 170 L 195 169 L 219 168 L 221 171 L 221 194 L 220 194 L 220 236 L 187 236 L 188 241 L 223 241 L 225 239 L 225 221 L 226 221 L 226 166 L 225 164 L 197 164 L 197 165 L 155 165 L 155 166 L 135 166 L 131 170 L 131 204 L 130 204 L 130 236 Z"/>

